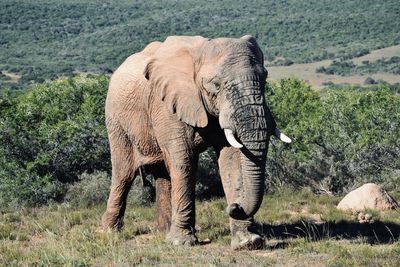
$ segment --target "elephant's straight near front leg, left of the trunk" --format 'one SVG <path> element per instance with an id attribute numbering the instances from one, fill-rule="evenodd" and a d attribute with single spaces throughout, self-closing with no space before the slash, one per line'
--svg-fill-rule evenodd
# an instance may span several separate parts
<path id="1" fill-rule="evenodd" d="M 195 174 L 198 156 L 187 154 L 166 158 L 171 176 L 171 228 L 167 241 L 174 245 L 195 245 L 198 239 L 195 227 Z"/>

